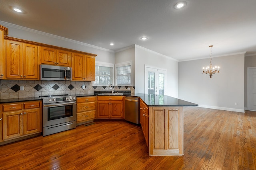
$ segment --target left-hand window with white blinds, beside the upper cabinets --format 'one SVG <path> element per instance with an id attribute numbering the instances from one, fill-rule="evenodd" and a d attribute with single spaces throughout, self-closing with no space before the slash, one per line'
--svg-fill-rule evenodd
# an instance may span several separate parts
<path id="1" fill-rule="evenodd" d="M 95 62 L 95 81 L 93 86 L 108 86 L 113 83 L 114 64 Z"/>

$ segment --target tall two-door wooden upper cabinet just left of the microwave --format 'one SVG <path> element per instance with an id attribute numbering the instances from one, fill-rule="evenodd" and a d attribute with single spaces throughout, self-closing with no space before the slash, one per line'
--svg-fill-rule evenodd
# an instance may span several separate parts
<path id="1" fill-rule="evenodd" d="M 6 41 L 6 78 L 38 80 L 38 46 Z"/>

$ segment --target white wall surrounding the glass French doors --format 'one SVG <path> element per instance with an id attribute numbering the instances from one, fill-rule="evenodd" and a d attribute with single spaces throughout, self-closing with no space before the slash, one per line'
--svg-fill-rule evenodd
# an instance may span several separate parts
<path id="1" fill-rule="evenodd" d="M 178 98 L 178 61 L 135 45 L 135 93 L 145 92 L 145 64 L 167 70 L 166 95 Z"/>

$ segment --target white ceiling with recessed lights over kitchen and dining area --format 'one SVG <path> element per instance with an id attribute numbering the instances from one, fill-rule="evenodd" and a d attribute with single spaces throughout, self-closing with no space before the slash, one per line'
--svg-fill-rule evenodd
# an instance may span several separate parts
<path id="1" fill-rule="evenodd" d="M 209 45 L 213 57 L 256 53 L 256 0 L 184 0 L 176 10 L 179 1 L 0 0 L 0 20 L 114 51 L 136 44 L 178 61 L 210 57 Z"/>

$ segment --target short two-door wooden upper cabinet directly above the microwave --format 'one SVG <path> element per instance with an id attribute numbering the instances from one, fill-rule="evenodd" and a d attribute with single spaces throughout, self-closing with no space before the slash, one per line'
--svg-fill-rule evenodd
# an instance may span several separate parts
<path id="1" fill-rule="evenodd" d="M 41 63 L 59 66 L 71 66 L 71 52 L 54 49 L 49 47 L 40 47 Z"/>

